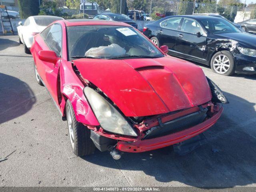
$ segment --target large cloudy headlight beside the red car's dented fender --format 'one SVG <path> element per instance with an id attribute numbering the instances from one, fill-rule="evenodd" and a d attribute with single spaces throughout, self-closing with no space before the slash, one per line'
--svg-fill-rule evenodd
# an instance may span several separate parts
<path id="1" fill-rule="evenodd" d="M 102 128 L 106 131 L 128 136 L 138 136 L 126 119 L 106 99 L 90 87 L 84 94 Z"/>

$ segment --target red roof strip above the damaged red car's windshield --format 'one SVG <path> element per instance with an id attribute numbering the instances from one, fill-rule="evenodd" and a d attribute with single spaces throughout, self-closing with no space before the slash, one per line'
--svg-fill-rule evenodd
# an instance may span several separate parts
<path id="1" fill-rule="evenodd" d="M 126 26 L 130 27 L 129 24 L 117 21 L 106 21 L 106 20 L 94 20 L 94 19 L 70 19 L 70 20 L 59 20 L 57 22 L 64 22 L 66 26 L 80 26 L 80 25 L 113 25 L 113 26 Z"/>

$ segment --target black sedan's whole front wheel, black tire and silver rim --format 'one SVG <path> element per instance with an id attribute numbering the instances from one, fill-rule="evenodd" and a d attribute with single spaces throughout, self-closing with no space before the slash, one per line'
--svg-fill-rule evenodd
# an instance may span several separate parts
<path id="1" fill-rule="evenodd" d="M 229 51 L 220 51 L 211 59 L 211 68 L 214 73 L 230 76 L 235 73 L 234 58 Z"/>

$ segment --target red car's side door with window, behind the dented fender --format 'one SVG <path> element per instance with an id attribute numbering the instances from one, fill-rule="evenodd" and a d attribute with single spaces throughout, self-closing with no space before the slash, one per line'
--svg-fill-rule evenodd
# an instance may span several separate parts
<path id="1" fill-rule="evenodd" d="M 37 52 L 40 50 L 52 50 L 58 56 L 55 64 L 38 59 L 37 70 L 43 80 L 48 92 L 56 104 L 58 104 L 58 72 L 62 56 L 62 27 L 60 24 L 53 24 L 41 33 L 44 41 L 40 42 Z"/>

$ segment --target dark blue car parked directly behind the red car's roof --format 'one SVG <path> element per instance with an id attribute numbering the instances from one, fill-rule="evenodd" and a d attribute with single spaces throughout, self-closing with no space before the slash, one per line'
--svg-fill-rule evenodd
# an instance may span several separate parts
<path id="1" fill-rule="evenodd" d="M 120 13 L 102 13 L 96 15 L 93 19 L 124 22 L 138 29 L 138 25 L 134 22 L 134 20 L 127 15 Z"/>

